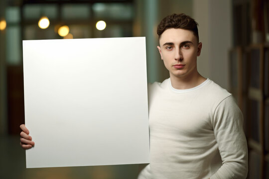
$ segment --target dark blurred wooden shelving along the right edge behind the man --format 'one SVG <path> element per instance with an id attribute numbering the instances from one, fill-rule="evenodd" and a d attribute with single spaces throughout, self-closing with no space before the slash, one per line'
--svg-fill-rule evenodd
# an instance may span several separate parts
<path id="1" fill-rule="evenodd" d="M 260 5 L 261 2 L 264 4 Z M 243 89 L 238 86 L 231 86 L 231 89 L 243 99 L 244 107 L 241 109 L 249 147 L 247 179 L 269 179 L 269 43 L 257 43 L 266 40 L 253 35 L 259 32 L 265 37 L 265 33 L 269 33 L 269 2 L 234 0 L 232 4 L 234 48 L 229 50 L 229 55 L 238 52 L 238 46 L 241 46 L 242 61 L 235 69 L 231 62 L 239 59 L 230 55 L 229 64 L 233 68 L 230 77 L 237 74 L 230 81 L 235 82 L 235 78 L 242 77 L 239 80 L 243 82 Z M 238 81 L 238 84 L 241 82 Z"/>

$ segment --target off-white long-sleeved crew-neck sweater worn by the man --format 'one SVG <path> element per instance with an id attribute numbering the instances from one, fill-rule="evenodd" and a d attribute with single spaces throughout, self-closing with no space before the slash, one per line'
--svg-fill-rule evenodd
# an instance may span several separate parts
<path id="1" fill-rule="evenodd" d="M 173 89 L 148 86 L 150 164 L 138 179 L 245 179 L 248 149 L 233 96 L 207 79 Z"/>

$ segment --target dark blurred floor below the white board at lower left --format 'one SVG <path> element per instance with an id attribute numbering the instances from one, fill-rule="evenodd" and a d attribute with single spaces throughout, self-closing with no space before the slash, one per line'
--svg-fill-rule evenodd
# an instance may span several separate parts
<path id="1" fill-rule="evenodd" d="M 138 165 L 25 168 L 19 136 L 0 136 L 0 179 L 136 179 Z"/>

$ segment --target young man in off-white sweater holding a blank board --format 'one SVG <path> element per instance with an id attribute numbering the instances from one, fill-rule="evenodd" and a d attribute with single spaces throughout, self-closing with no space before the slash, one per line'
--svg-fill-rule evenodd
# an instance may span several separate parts
<path id="1" fill-rule="evenodd" d="M 243 116 L 229 92 L 197 71 L 197 23 L 172 14 L 157 33 L 170 78 L 148 87 L 150 164 L 138 179 L 245 179 Z M 21 129 L 22 148 L 31 148 L 29 131 Z"/>

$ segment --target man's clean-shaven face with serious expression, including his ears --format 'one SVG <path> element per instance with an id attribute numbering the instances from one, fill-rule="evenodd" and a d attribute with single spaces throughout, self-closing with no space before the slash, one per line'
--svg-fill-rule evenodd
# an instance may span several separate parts
<path id="1" fill-rule="evenodd" d="M 190 30 L 170 28 L 165 30 L 157 46 L 164 66 L 170 77 L 191 77 L 198 75 L 197 56 L 200 55 L 202 43 L 198 43 Z"/>

